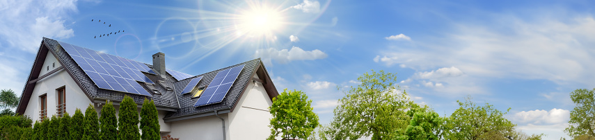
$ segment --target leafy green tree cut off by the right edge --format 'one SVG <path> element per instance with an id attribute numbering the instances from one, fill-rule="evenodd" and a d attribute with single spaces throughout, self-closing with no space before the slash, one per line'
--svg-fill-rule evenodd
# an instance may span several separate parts
<path id="1" fill-rule="evenodd" d="M 570 112 L 570 125 L 564 132 L 575 139 L 595 137 L 595 89 L 576 89 L 570 93 L 570 98 L 576 105 Z"/>

